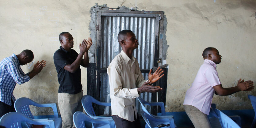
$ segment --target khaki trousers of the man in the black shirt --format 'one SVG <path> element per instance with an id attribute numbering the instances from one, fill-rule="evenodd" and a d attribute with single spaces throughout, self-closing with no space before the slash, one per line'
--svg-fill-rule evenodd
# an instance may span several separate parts
<path id="1" fill-rule="evenodd" d="M 75 128 L 73 114 L 76 111 L 83 111 L 82 97 L 82 91 L 77 94 L 58 93 L 58 106 L 62 118 L 62 128 Z"/>

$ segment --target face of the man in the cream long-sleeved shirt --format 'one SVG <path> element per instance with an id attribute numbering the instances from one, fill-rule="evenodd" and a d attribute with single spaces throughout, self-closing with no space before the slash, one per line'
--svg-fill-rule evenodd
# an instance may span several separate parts
<path id="1" fill-rule="evenodd" d="M 128 32 L 126 34 L 126 39 L 124 39 L 125 47 L 128 49 L 136 49 L 139 46 L 138 40 L 136 39 L 136 36 L 133 32 Z"/>

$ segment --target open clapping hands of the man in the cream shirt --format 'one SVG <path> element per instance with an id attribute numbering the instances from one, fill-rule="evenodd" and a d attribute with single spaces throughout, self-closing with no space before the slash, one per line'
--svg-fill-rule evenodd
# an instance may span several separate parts
<path id="1" fill-rule="evenodd" d="M 151 74 L 151 69 L 148 73 L 148 81 L 143 83 L 143 85 L 141 87 L 138 88 L 138 93 L 143 93 L 143 92 L 158 92 L 160 90 L 162 90 L 162 88 L 160 88 L 159 86 L 151 86 L 149 84 L 153 84 L 156 81 L 158 81 L 161 77 L 163 77 L 164 74 L 162 69 L 160 69 L 160 67 L 157 68 L 157 70 Z M 161 75 L 162 74 L 162 75 Z"/>

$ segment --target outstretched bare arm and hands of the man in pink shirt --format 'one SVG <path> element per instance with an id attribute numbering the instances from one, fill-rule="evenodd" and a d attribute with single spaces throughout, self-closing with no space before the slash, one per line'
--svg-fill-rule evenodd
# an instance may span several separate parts
<path id="1" fill-rule="evenodd" d="M 216 91 L 216 95 L 227 96 L 240 91 L 251 91 L 254 89 L 253 81 L 238 81 L 237 86 L 231 88 L 223 88 L 222 85 L 216 85 L 213 89 Z"/>

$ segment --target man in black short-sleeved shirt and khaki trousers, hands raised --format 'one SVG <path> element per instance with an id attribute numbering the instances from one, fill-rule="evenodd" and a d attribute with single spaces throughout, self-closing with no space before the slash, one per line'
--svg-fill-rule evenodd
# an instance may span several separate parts
<path id="1" fill-rule="evenodd" d="M 79 43 L 79 54 L 71 49 L 74 47 L 74 38 L 69 32 L 60 33 L 59 42 L 61 46 L 53 55 L 59 81 L 58 106 L 62 117 L 62 128 L 71 128 L 74 127 L 73 114 L 76 111 L 83 111 L 80 65 L 88 66 L 88 50 L 92 40 L 89 38 L 83 40 L 82 44 Z"/>

